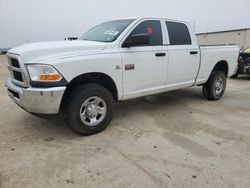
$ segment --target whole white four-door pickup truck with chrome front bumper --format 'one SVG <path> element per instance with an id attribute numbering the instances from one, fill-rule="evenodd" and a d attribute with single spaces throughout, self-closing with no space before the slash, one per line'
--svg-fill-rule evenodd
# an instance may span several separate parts
<path id="1" fill-rule="evenodd" d="M 220 99 L 238 55 L 238 46 L 198 46 L 186 22 L 120 19 L 79 40 L 11 49 L 6 86 L 24 110 L 62 112 L 70 128 L 91 135 L 107 127 L 117 101 L 191 86 L 203 86 L 209 100 Z"/>

